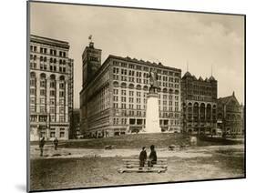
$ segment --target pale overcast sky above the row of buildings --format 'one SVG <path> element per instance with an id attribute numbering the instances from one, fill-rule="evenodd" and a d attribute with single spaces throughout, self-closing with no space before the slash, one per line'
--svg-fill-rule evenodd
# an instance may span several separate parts
<path id="1" fill-rule="evenodd" d="M 82 87 L 82 52 L 93 36 L 108 55 L 130 56 L 218 80 L 218 97 L 233 91 L 244 103 L 244 21 L 211 15 L 86 5 L 31 3 L 31 34 L 69 42 L 74 59 L 74 106 Z"/>

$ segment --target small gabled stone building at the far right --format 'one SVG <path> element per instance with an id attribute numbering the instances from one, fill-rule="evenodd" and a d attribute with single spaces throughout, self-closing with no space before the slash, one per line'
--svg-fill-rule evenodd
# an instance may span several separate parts
<path id="1" fill-rule="evenodd" d="M 235 93 L 218 99 L 218 127 L 230 136 L 244 134 L 243 106 L 237 100 Z"/>

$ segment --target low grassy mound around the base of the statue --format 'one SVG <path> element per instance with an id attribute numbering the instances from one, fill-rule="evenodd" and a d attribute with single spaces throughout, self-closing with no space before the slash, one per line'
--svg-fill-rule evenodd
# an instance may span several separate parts
<path id="1" fill-rule="evenodd" d="M 189 135 L 186 134 L 134 134 L 118 137 L 94 138 L 85 140 L 72 140 L 63 142 L 60 147 L 67 148 L 104 148 L 113 146 L 114 148 L 140 148 L 149 147 L 152 144 L 155 147 L 169 147 L 170 145 L 180 146 L 189 145 Z M 237 144 L 237 141 L 228 139 L 205 140 L 198 137 L 197 146 L 214 146 L 214 145 L 232 145 Z"/>

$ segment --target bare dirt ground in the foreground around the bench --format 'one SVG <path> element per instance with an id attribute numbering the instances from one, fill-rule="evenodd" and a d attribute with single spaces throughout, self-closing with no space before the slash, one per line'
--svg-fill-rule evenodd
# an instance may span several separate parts
<path id="1" fill-rule="evenodd" d="M 46 146 L 39 157 L 31 147 L 31 189 L 91 188 L 178 182 L 186 180 L 244 178 L 244 146 L 188 147 L 169 151 L 157 148 L 159 157 L 168 158 L 165 173 L 118 173 L 125 157 L 138 157 L 139 148 L 61 148 Z"/>

